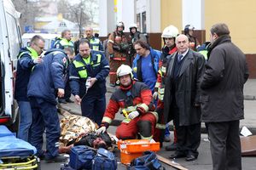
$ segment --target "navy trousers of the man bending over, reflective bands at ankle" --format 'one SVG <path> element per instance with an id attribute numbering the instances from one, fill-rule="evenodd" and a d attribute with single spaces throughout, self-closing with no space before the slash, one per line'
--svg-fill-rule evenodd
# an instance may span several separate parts
<path id="1" fill-rule="evenodd" d="M 59 138 L 61 135 L 60 121 L 56 105 L 44 99 L 32 98 L 32 128 L 30 143 L 38 150 L 38 155 L 43 153 L 43 133 L 46 129 L 46 154 L 48 158 L 58 156 Z"/>

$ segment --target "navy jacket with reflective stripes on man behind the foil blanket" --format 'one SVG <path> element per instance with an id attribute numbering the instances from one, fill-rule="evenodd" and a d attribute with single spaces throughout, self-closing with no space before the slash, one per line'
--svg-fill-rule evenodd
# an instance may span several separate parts
<path id="1" fill-rule="evenodd" d="M 100 62 L 98 63 L 98 56 L 101 56 Z M 84 64 L 83 67 L 76 68 L 73 64 L 74 61 L 79 61 Z M 79 95 L 82 98 L 85 94 L 85 82 L 87 77 L 96 77 L 97 81 L 95 84 L 89 88 L 88 94 L 86 95 L 98 95 L 105 94 L 107 92 L 106 89 L 106 77 L 108 77 L 109 73 L 109 65 L 108 60 L 102 52 L 91 50 L 90 52 L 90 65 L 86 65 L 84 59 L 80 54 L 77 54 L 74 58 L 73 63 L 70 65 L 70 88 L 72 89 L 73 95 Z M 81 78 L 79 76 L 79 71 L 81 70 L 87 71 L 87 77 Z"/>

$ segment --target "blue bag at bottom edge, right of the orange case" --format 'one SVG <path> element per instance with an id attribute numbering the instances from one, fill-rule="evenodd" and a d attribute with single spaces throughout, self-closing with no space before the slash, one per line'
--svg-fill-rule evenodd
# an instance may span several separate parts
<path id="1" fill-rule="evenodd" d="M 160 161 L 152 151 L 145 151 L 143 156 L 137 157 L 131 161 L 131 165 L 127 167 L 128 170 L 160 170 L 166 169 L 162 167 Z"/>

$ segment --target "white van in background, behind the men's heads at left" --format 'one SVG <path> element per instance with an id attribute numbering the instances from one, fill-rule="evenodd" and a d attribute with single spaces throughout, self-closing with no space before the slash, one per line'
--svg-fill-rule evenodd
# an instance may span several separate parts
<path id="1" fill-rule="evenodd" d="M 39 35 L 41 37 L 44 37 L 45 43 L 44 43 L 44 50 L 47 50 L 50 47 L 52 42 L 55 42 L 55 37 L 61 37 L 59 34 L 49 34 L 49 33 L 25 33 L 22 35 L 22 47 L 26 47 L 30 45 L 30 40 L 35 35 Z"/>

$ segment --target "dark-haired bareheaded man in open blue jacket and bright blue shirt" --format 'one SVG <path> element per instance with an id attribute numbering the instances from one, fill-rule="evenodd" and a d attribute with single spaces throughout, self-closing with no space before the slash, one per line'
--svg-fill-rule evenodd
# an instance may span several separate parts
<path id="1" fill-rule="evenodd" d="M 154 86 L 159 70 L 160 51 L 149 47 L 147 42 L 138 40 L 134 42 L 137 56 L 133 59 L 132 71 L 137 81 L 144 82 L 154 93 Z"/>

